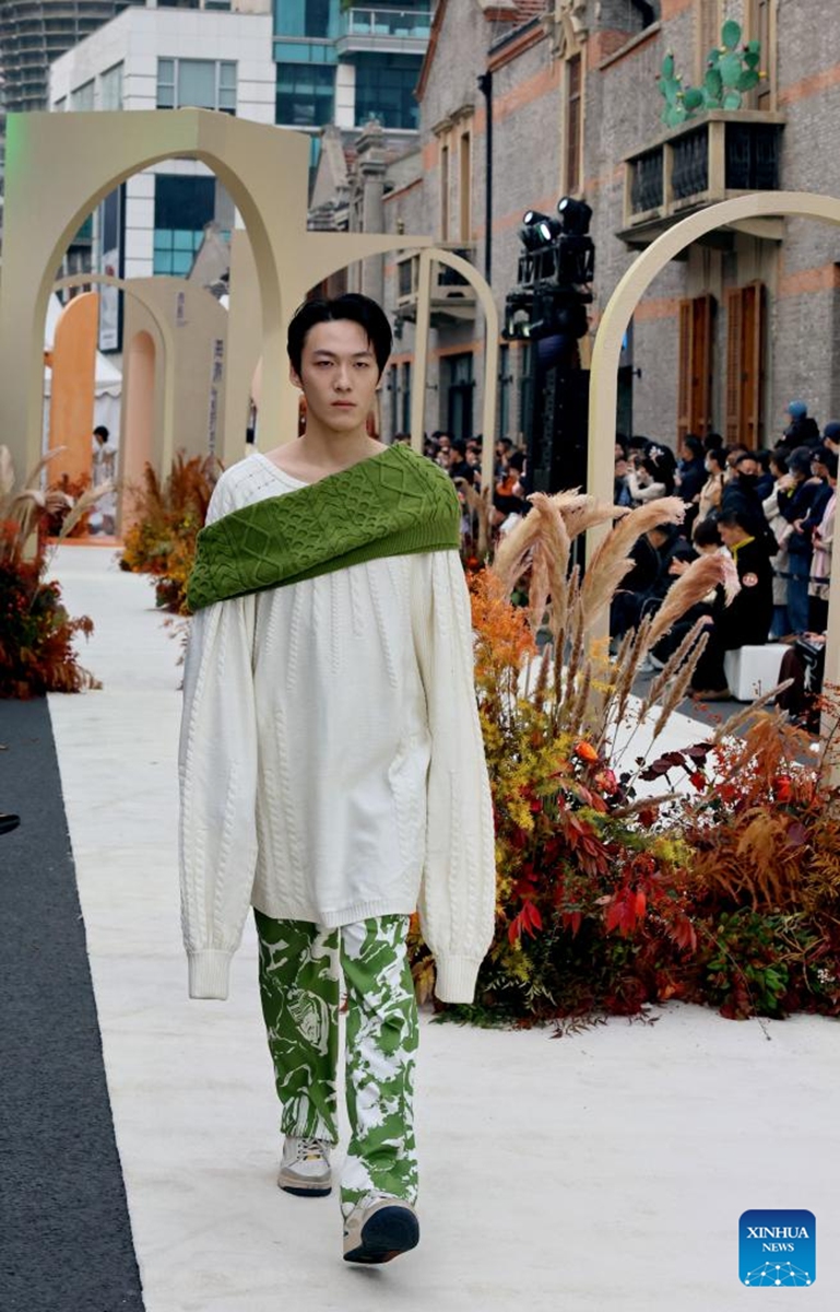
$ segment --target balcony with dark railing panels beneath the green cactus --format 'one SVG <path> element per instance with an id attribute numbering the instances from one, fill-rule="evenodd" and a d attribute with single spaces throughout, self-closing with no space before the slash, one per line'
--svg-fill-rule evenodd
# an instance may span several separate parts
<path id="1" fill-rule="evenodd" d="M 624 227 L 642 248 L 679 219 L 747 192 L 777 192 L 782 114 L 710 110 L 624 160 Z M 754 236 L 781 240 L 781 219 L 746 220 Z M 718 239 L 719 240 L 719 236 Z"/>

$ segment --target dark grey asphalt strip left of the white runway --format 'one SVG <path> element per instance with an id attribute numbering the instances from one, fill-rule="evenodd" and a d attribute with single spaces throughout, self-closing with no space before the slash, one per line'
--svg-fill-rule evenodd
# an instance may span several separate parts
<path id="1" fill-rule="evenodd" d="M 46 698 L 0 701 L 0 1308 L 143 1309 Z"/>

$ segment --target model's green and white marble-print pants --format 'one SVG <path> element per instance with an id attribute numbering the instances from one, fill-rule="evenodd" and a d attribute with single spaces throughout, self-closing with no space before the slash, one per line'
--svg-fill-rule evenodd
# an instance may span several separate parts
<path id="1" fill-rule="evenodd" d="M 259 996 L 274 1063 L 280 1128 L 338 1143 L 337 956 L 347 989 L 350 1145 L 341 1179 L 349 1216 L 367 1197 L 417 1200 L 414 1054 L 417 1002 L 406 954 L 408 916 L 324 929 L 254 911 Z"/>

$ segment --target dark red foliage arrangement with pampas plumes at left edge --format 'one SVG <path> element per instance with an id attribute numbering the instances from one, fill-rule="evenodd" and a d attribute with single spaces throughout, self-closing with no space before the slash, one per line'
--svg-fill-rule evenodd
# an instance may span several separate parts
<path id="1" fill-rule="evenodd" d="M 52 556 L 46 542 L 51 518 L 60 517 L 63 541 L 110 488 L 88 488 L 75 502 L 66 492 L 41 491 L 41 472 L 55 454 L 41 461 L 16 492 L 9 450 L 0 446 L 0 697 L 101 686 L 73 651 L 76 635 L 93 632 L 93 622 L 68 615 L 60 585 L 47 579 Z"/>

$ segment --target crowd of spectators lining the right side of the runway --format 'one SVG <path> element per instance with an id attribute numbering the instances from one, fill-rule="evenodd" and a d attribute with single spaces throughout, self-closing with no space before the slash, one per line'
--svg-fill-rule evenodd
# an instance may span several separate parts
<path id="1" fill-rule="evenodd" d="M 695 605 L 650 655 L 662 666 L 688 628 L 705 619 L 708 640 L 693 677 L 692 697 L 731 697 L 726 653 L 743 646 L 784 642 L 790 653 L 782 676 L 793 691 L 782 701 L 792 714 L 807 712 L 819 690 L 828 618 L 828 586 L 836 514 L 840 422 L 820 426 L 805 401 L 790 401 L 780 440 L 768 450 L 726 443 L 719 433 L 687 434 L 676 453 L 664 442 L 616 438 L 615 502 L 637 506 L 659 497 L 685 502 L 681 525 L 660 523 L 633 547 L 633 568 L 611 614 L 613 647 L 628 628 L 655 611 L 676 579 L 698 555 L 729 552 L 740 590 L 730 605 L 716 589 Z M 394 441 L 408 442 L 398 433 Z M 465 488 L 481 489 L 481 437 L 459 441 L 444 432 L 425 440 L 425 454 L 456 482 L 464 505 L 464 534 L 474 529 Z M 499 438 L 494 447 L 490 522 L 495 535 L 528 513 L 527 458 Z"/>

